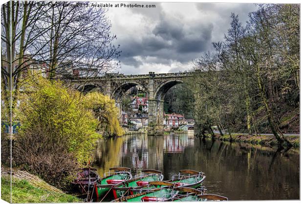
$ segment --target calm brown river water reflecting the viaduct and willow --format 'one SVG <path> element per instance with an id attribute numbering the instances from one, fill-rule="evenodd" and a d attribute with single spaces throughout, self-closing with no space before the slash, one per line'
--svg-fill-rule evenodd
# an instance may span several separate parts
<path id="1" fill-rule="evenodd" d="M 229 200 L 299 200 L 299 150 L 203 140 L 187 134 L 129 135 L 100 139 L 94 167 L 102 176 L 113 166 L 162 171 L 169 180 L 180 169 L 202 171 L 207 193 Z"/>

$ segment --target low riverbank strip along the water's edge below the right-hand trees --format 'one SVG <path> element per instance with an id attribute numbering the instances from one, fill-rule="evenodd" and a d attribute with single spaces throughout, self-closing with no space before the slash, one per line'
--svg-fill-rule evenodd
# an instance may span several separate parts
<path id="1" fill-rule="evenodd" d="M 206 137 L 211 138 L 210 134 L 207 134 Z M 293 144 L 295 148 L 300 147 L 300 136 L 285 136 L 287 140 Z M 275 136 L 273 135 L 244 135 L 239 133 L 232 133 L 230 135 L 215 134 L 216 140 L 223 141 L 232 141 L 232 142 L 243 142 L 243 143 L 252 143 L 252 144 L 261 144 L 264 146 L 275 147 L 278 145 Z"/>

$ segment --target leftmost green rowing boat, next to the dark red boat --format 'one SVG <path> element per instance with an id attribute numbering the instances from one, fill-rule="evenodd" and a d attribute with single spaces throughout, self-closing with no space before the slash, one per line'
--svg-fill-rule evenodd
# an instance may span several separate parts
<path id="1" fill-rule="evenodd" d="M 104 177 L 97 181 L 97 184 L 94 185 L 94 192 L 91 198 L 103 199 L 105 198 L 109 190 L 117 185 L 122 184 L 127 180 L 132 178 L 130 173 L 130 168 L 127 167 L 113 167 L 110 168 L 107 173 L 104 174 Z"/>

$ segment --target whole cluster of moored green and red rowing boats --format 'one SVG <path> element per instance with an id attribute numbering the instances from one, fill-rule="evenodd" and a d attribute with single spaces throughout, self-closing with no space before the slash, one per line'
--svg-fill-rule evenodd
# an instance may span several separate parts
<path id="1" fill-rule="evenodd" d="M 92 171 L 91 171 L 92 170 Z M 184 169 L 173 175 L 169 181 L 162 181 L 163 174 L 158 170 L 142 170 L 132 175 L 130 168 L 113 167 L 103 178 L 95 174 L 95 169 L 87 169 L 83 178 L 73 182 L 74 188 L 87 193 L 88 201 L 113 202 L 156 202 L 156 201 L 206 201 L 227 200 L 227 198 L 205 194 L 202 182 L 206 176 L 203 172 Z M 83 176 L 84 175 L 84 176 Z M 85 177 L 87 176 L 87 177 Z M 97 179 L 96 179 L 97 178 Z M 86 181 L 86 183 L 81 182 Z M 88 182 L 87 182 L 88 181 Z"/>

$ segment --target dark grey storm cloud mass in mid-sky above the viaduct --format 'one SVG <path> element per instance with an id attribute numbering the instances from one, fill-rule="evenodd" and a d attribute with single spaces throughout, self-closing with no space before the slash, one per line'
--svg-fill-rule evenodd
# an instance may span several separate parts
<path id="1" fill-rule="evenodd" d="M 161 16 L 151 33 L 146 36 L 124 38 L 121 45 L 121 62 L 138 67 L 133 57 L 157 57 L 164 64 L 189 61 L 206 51 L 211 43 L 212 24 L 185 25 L 177 19 Z M 169 60 L 168 60 L 169 59 Z M 155 61 L 155 60 L 154 60 Z M 156 62 L 156 61 L 155 61 Z"/>

